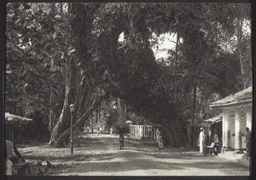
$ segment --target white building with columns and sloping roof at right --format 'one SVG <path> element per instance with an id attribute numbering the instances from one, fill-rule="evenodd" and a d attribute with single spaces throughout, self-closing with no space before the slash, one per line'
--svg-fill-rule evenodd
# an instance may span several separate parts
<path id="1" fill-rule="evenodd" d="M 210 107 L 222 111 L 223 149 L 243 153 L 246 149 L 245 129 L 252 130 L 252 86 L 212 102 Z"/>

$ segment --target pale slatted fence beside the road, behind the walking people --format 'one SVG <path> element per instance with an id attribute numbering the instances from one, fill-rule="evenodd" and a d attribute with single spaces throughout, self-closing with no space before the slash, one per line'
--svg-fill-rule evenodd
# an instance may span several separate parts
<path id="1" fill-rule="evenodd" d="M 157 139 L 158 127 L 153 125 L 130 125 L 130 137 L 139 139 Z"/>

